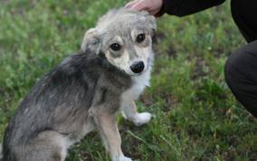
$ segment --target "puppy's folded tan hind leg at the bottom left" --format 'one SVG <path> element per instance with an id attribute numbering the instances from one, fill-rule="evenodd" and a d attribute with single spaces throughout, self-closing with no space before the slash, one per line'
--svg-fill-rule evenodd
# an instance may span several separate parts
<path id="1" fill-rule="evenodd" d="M 14 147 L 17 161 L 64 161 L 66 139 L 61 134 L 47 130 L 28 141 L 28 144 Z"/>

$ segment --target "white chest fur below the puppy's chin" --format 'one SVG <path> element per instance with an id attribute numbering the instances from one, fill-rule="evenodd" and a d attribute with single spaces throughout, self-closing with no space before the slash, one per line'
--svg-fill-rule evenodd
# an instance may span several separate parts
<path id="1" fill-rule="evenodd" d="M 138 99 L 146 86 L 149 86 L 150 70 L 132 78 L 132 86 L 121 94 L 121 106 Z"/>

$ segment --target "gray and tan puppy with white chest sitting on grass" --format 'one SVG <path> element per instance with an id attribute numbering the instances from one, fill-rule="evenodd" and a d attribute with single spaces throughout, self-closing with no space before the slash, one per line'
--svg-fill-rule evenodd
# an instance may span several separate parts
<path id="1" fill-rule="evenodd" d="M 121 151 L 116 114 L 136 125 L 135 99 L 148 86 L 156 19 L 146 12 L 110 11 L 85 33 L 81 52 L 39 80 L 5 130 L 2 161 L 63 161 L 67 148 L 97 129 L 113 161 Z"/>

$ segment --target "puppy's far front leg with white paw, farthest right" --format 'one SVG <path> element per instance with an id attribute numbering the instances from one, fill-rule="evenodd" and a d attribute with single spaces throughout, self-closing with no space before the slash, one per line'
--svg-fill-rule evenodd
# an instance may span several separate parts
<path id="1" fill-rule="evenodd" d="M 151 114 L 148 112 L 138 113 L 138 108 L 134 101 L 130 102 L 126 107 L 122 107 L 122 110 L 125 114 L 124 118 L 134 122 L 136 126 L 146 124 L 151 119 Z"/>

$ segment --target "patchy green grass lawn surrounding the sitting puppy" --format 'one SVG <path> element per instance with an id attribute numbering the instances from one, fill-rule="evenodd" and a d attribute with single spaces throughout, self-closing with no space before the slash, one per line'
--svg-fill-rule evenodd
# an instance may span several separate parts
<path id="1" fill-rule="evenodd" d="M 83 33 L 123 0 L 0 2 L 0 138 L 34 82 L 80 49 Z M 145 161 L 257 160 L 257 122 L 233 98 L 224 62 L 244 45 L 229 3 L 200 14 L 158 19 L 151 87 L 139 110 L 156 117 L 143 127 L 119 117 L 126 156 Z M 109 160 L 96 132 L 68 161 Z"/>

